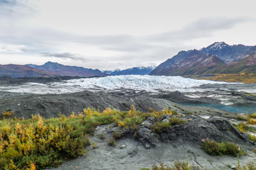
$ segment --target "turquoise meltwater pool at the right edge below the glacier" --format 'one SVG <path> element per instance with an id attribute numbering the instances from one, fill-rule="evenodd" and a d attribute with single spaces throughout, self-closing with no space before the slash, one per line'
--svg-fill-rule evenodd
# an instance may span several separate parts
<path id="1" fill-rule="evenodd" d="M 226 106 L 222 104 L 198 104 L 198 103 L 182 103 L 186 106 L 203 106 L 208 108 L 218 108 L 223 111 L 230 111 L 233 113 L 256 113 L 256 106 Z"/>

